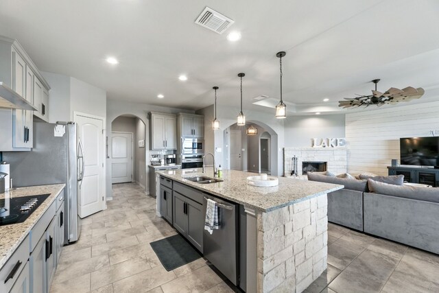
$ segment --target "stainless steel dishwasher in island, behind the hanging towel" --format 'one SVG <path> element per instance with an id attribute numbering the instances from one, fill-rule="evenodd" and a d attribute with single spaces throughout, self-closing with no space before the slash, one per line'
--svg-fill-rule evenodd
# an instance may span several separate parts
<path id="1" fill-rule="evenodd" d="M 207 198 L 217 202 L 219 229 L 213 230 L 212 235 L 204 230 L 203 255 L 227 279 L 233 284 L 238 285 L 239 205 L 204 194 L 204 217 L 206 217 Z"/>

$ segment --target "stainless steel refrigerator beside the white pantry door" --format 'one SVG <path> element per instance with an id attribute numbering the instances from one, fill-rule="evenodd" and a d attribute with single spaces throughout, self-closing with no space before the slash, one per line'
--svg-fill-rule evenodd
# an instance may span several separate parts
<path id="1" fill-rule="evenodd" d="M 64 244 L 77 241 L 81 232 L 78 196 L 84 164 L 76 124 L 34 122 L 34 148 L 30 152 L 3 152 L 3 161 L 10 164 L 13 187 L 66 184 Z"/>

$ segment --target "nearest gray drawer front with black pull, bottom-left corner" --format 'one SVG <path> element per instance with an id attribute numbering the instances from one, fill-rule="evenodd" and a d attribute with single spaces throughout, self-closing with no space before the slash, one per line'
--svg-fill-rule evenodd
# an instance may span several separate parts
<path id="1" fill-rule="evenodd" d="M 0 270 L 0 292 L 9 292 L 29 259 L 29 235 Z M 8 281 L 6 281 L 8 280 Z"/>

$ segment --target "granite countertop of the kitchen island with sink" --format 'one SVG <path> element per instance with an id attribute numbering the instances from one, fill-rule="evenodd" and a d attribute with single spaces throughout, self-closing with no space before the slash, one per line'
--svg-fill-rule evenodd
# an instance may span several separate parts
<path id="1" fill-rule="evenodd" d="M 185 179 L 185 177 L 200 175 L 213 177 L 212 168 L 206 168 L 206 170 L 208 170 L 206 173 L 201 173 L 202 169 L 179 169 L 157 173 L 219 198 L 264 212 L 280 209 L 306 198 L 327 194 L 344 187 L 316 181 L 291 180 L 285 177 L 278 177 L 279 185 L 275 187 L 254 187 L 247 184 L 247 177 L 257 174 L 235 170 L 223 170 L 223 176 L 220 179 L 224 181 L 220 183 L 198 184 Z"/>

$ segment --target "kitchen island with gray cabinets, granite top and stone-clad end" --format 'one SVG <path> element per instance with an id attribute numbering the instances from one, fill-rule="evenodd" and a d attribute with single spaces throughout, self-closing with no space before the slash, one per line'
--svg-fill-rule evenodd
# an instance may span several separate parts
<path id="1" fill-rule="evenodd" d="M 206 176 L 201 169 L 157 173 L 157 189 L 168 189 L 167 194 L 172 190 L 172 207 L 167 196 L 166 212 L 161 208 L 163 197 L 157 198 L 158 215 L 209 261 L 213 250 L 228 249 L 230 253 L 223 255 L 230 263 L 211 262 L 245 292 L 302 292 L 327 269 L 327 194 L 343 185 L 279 177 L 276 187 L 254 187 L 246 180 L 254 174 L 234 170 L 224 170 L 222 182 L 200 184 L 187 178 Z M 160 178 L 170 182 L 161 185 Z M 213 231 L 213 237 L 204 231 L 206 198 L 222 203 L 220 218 L 228 215 L 219 220 L 220 230 Z M 236 222 L 230 222 L 230 214 L 236 215 Z M 230 236 L 230 223 L 237 235 L 237 245 L 231 249 L 222 247 L 233 242 L 226 237 Z"/>

